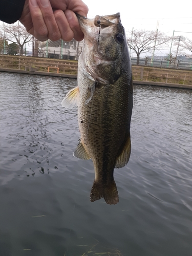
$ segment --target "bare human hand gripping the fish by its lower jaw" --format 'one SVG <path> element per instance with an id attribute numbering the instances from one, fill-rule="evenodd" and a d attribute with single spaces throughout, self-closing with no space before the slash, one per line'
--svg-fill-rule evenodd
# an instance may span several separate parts
<path id="1" fill-rule="evenodd" d="M 26 0 L 20 22 L 40 41 L 83 39 L 75 12 L 87 16 L 81 0 Z"/>

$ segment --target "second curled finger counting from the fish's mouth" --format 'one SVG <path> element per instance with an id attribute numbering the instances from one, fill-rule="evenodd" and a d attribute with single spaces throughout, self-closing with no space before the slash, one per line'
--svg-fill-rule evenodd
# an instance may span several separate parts
<path id="1" fill-rule="evenodd" d="M 70 28 L 65 13 L 61 10 L 55 10 L 54 16 L 61 34 L 61 38 L 65 41 L 71 41 L 74 37 L 74 33 Z"/>

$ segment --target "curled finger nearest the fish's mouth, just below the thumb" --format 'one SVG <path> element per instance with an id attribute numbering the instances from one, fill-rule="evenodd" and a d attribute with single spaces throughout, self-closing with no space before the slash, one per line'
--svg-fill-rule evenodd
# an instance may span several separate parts
<path id="1" fill-rule="evenodd" d="M 68 20 L 69 26 L 70 26 L 71 30 L 73 31 L 74 39 L 77 41 L 81 41 L 83 39 L 84 35 L 80 29 L 77 16 L 71 10 L 66 10 L 65 15 Z"/>

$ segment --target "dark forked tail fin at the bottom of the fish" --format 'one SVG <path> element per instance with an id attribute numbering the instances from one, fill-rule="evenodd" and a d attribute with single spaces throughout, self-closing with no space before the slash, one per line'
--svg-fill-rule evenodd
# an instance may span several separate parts
<path id="1" fill-rule="evenodd" d="M 110 184 L 102 184 L 94 181 L 91 189 L 91 202 L 104 198 L 107 204 L 117 204 L 119 202 L 119 196 L 115 181 Z"/>

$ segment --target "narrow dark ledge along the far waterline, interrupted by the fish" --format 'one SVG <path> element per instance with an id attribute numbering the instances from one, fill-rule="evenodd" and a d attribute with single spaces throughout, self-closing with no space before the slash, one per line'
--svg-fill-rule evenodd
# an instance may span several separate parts
<path id="1" fill-rule="evenodd" d="M 25 70 L 18 70 L 18 69 L 0 68 L 0 72 L 30 74 L 30 75 L 42 75 L 42 76 L 56 76 L 56 77 L 66 77 L 66 78 L 77 78 L 77 75 L 61 74 L 61 73 L 57 74 L 57 73 L 53 73 L 53 72 L 25 71 Z M 192 85 L 179 84 L 179 83 L 163 83 L 163 82 L 133 80 L 133 84 L 138 85 L 138 86 L 160 86 L 160 87 L 192 89 Z"/>

